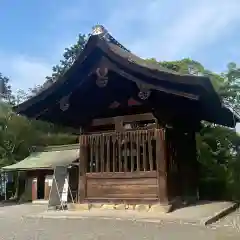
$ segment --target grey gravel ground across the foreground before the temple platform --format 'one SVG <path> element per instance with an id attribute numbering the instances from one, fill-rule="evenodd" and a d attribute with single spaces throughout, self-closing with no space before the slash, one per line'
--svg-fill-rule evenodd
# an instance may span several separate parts
<path id="1" fill-rule="evenodd" d="M 235 232 L 173 223 L 23 217 L 43 210 L 43 206 L 32 205 L 0 207 L 0 240 L 240 239 L 240 235 Z"/>

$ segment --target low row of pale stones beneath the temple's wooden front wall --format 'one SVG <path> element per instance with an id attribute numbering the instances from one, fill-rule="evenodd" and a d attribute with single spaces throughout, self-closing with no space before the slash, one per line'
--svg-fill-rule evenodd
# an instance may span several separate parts
<path id="1" fill-rule="evenodd" d="M 70 204 L 70 210 L 75 211 L 90 211 L 94 209 L 101 210 L 135 210 L 138 212 L 158 212 L 168 213 L 172 210 L 172 205 L 161 204 L 100 204 L 100 203 L 83 203 L 83 204 Z"/>

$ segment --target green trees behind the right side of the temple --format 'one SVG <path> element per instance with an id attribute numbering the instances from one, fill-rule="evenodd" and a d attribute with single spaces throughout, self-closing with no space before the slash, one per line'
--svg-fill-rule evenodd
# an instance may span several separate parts
<path id="1" fill-rule="evenodd" d="M 150 59 L 149 61 L 155 61 Z M 191 59 L 160 62 L 161 66 L 180 73 L 209 76 L 223 103 L 235 114 L 240 112 L 240 68 L 228 64 L 226 72 L 218 75 Z M 201 189 L 203 195 L 217 193 L 216 198 L 239 199 L 240 136 L 232 129 L 204 122 L 197 135 L 199 162 L 201 164 Z M 209 191 L 208 191 L 209 189 Z"/>

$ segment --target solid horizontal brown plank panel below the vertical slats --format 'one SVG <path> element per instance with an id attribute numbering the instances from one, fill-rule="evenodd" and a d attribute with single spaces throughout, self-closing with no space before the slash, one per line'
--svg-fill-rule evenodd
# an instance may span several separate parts
<path id="1" fill-rule="evenodd" d="M 105 175 L 105 176 L 104 176 Z M 144 176 L 145 175 L 145 176 Z M 87 175 L 87 198 L 91 199 L 157 199 L 156 174 L 104 174 Z"/>

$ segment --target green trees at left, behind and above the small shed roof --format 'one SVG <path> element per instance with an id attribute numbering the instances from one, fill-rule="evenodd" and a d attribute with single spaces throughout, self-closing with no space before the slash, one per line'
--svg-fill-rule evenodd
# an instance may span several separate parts
<path id="1" fill-rule="evenodd" d="M 12 95 L 10 80 L 2 78 L 5 89 L 4 99 L 0 101 L 0 167 L 22 160 L 29 155 L 33 146 L 76 142 L 77 137 L 71 134 L 71 129 L 15 114 L 12 105 L 24 101 L 26 93 L 18 91 L 15 96 L 9 97 L 8 94 Z"/>

